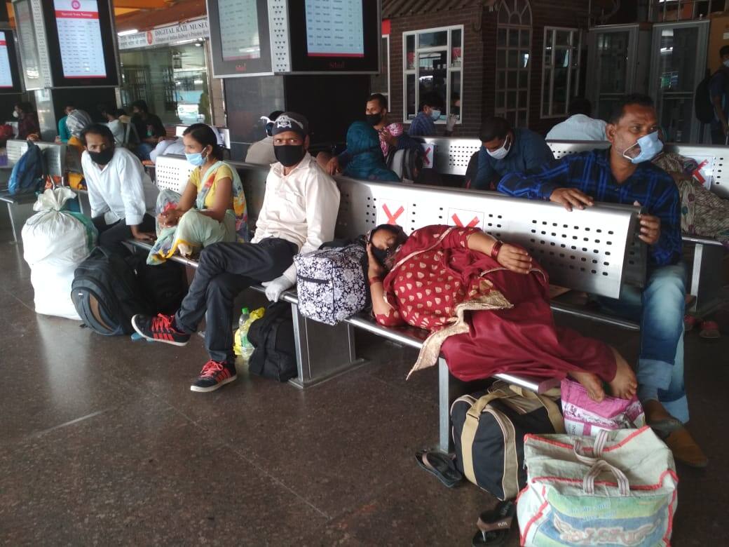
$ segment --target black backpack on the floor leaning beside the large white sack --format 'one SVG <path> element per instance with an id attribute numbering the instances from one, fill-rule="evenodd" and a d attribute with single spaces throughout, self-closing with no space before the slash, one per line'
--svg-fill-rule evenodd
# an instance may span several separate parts
<path id="1" fill-rule="evenodd" d="M 128 260 L 102 247 L 76 268 L 71 284 L 71 300 L 82 321 L 106 336 L 133 333 L 132 316 L 152 312 L 143 294 Z"/>

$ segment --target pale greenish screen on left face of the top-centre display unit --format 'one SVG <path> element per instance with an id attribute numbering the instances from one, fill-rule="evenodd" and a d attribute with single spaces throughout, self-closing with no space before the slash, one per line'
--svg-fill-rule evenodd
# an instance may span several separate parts
<path id="1" fill-rule="evenodd" d="M 223 61 L 260 59 L 256 0 L 219 0 L 218 18 Z"/>

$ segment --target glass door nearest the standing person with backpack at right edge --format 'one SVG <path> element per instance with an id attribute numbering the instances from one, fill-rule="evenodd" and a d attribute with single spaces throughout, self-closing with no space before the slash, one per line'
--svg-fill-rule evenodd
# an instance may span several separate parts
<path id="1" fill-rule="evenodd" d="M 709 21 L 653 28 L 651 94 L 666 141 L 698 141 L 701 123 L 693 113 L 693 95 L 703 79 L 708 39 Z"/>

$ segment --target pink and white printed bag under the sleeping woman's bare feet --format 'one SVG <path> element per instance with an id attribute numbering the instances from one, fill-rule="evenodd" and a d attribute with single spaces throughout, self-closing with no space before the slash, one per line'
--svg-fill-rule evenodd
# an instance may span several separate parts
<path id="1" fill-rule="evenodd" d="M 590 399 L 582 384 L 562 380 L 562 415 L 568 435 L 594 437 L 601 430 L 637 429 L 645 425 L 645 413 L 638 397 L 631 400 L 606 396 L 600 403 Z"/>

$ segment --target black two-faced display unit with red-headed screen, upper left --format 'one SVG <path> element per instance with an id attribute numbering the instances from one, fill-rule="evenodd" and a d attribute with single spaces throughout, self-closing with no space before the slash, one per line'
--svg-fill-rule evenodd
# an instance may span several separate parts
<path id="1" fill-rule="evenodd" d="M 14 0 L 13 8 L 26 88 L 119 85 L 109 0 Z"/>

